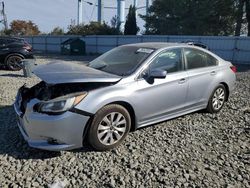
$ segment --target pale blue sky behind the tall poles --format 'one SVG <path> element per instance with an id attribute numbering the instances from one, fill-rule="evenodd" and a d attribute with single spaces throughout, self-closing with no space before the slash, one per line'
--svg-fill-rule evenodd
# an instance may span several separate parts
<path id="1" fill-rule="evenodd" d="M 31 20 L 38 25 L 41 32 L 50 32 L 59 26 L 67 31 L 71 20 L 77 20 L 77 0 L 0 0 L 5 3 L 5 12 L 8 23 L 13 20 Z M 86 0 L 97 4 L 98 0 Z M 105 6 L 117 6 L 117 0 L 103 0 Z M 133 0 L 125 0 L 126 8 Z M 83 21 L 85 24 L 97 20 L 97 7 L 83 3 Z M 138 7 L 145 6 L 145 0 L 138 0 Z M 126 15 L 128 10 L 126 10 Z M 139 9 L 139 14 L 145 14 L 145 9 Z M 116 15 L 116 10 L 104 9 L 103 18 L 110 24 L 110 20 Z M 137 18 L 137 24 L 143 30 L 143 20 Z M 1 26 L 3 27 L 3 26 Z"/>

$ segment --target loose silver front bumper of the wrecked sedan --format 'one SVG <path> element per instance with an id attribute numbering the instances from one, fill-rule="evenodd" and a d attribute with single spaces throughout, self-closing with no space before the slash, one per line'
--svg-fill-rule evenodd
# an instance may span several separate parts
<path id="1" fill-rule="evenodd" d="M 36 103 L 36 99 L 31 100 L 25 113 L 21 112 L 18 100 L 14 103 L 18 127 L 29 146 L 50 151 L 82 147 L 83 132 L 90 117 L 72 112 L 40 114 L 33 111 Z"/>

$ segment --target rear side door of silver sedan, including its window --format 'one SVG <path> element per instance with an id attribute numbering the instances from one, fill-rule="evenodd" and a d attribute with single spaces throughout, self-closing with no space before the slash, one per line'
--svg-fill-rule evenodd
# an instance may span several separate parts
<path id="1" fill-rule="evenodd" d="M 184 56 L 189 80 L 187 104 L 189 107 L 205 106 L 214 89 L 218 61 L 195 48 L 185 48 Z"/>

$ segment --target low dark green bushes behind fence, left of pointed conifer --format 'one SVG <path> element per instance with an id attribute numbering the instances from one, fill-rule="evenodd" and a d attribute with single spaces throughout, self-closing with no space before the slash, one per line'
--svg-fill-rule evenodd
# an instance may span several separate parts
<path id="1" fill-rule="evenodd" d="M 68 27 L 70 35 L 119 35 L 121 32 L 114 27 L 110 27 L 105 22 L 91 22 L 88 25 L 70 25 Z"/>

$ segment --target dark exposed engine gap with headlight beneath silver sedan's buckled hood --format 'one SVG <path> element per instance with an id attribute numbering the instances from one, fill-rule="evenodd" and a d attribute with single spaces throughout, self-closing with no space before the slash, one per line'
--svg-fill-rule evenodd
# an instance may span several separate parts
<path id="1" fill-rule="evenodd" d="M 19 89 L 17 101 L 22 114 L 25 113 L 27 103 L 37 99 L 40 102 L 34 105 L 34 112 L 56 115 L 76 106 L 90 90 L 109 85 L 112 83 L 47 84 L 42 81 L 31 88 L 22 86 Z"/>

